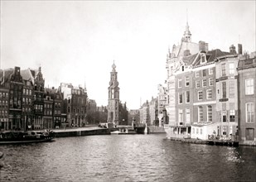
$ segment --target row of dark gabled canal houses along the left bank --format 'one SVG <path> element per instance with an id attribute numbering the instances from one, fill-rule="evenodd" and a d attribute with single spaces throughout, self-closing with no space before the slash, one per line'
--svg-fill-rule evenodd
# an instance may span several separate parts
<path id="1" fill-rule="evenodd" d="M 86 89 L 45 88 L 39 69 L 0 69 L 0 131 L 51 129 L 85 124 Z"/>

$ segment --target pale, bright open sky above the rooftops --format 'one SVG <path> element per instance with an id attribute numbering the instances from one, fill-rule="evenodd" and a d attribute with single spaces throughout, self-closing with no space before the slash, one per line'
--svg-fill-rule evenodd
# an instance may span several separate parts
<path id="1" fill-rule="evenodd" d="M 255 51 L 255 1 L 1 1 L 1 69 L 41 65 L 46 87 L 85 85 L 108 105 L 110 72 L 129 109 L 157 97 L 168 47 L 190 26 L 193 42 Z"/>

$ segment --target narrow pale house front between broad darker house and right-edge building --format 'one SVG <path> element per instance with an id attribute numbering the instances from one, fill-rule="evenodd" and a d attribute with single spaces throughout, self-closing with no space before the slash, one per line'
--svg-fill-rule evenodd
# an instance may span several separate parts
<path id="1" fill-rule="evenodd" d="M 223 55 L 216 60 L 216 112 L 218 135 L 231 138 L 238 126 L 238 55 Z"/>

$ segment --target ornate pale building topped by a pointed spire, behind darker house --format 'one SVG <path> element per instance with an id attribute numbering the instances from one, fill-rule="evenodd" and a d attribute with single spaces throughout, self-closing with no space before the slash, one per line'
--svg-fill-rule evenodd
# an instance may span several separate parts
<path id="1" fill-rule="evenodd" d="M 200 50 L 208 51 L 208 44 L 204 41 L 195 43 L 191 41 L 191 31 L 189 30 L 188 23 L 186 23 L 186 31 L 181 39 L 180 45 L 173 45 L 172 50 L 167 54 L 167 118 L 168 123 L 165 124 L 165 130 L 167 133 L 173 133 L 176 131 L 178 125 L 178 118 L 176 116 L 176 74 L 180 71 L 185 71 L 185 62 L 182 62 L 183 58 L 187 56 L 195 55 Z M 181 82 L 181 80 L 180 80 Z M 188 110 L 187 110 L 188 112 Z M 181 111 L 180 111 L 181 113 Z M 183 112 L 182 112 L 183 113 Z"/>

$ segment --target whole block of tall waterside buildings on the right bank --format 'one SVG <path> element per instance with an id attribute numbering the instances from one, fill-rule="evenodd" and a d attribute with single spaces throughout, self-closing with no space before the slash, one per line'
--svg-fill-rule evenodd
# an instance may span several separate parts
<path id="1" fill-rule="evenodd" d="M 167 54 L 165 130 L 169 137 L 236 138 L 256 145 L 256 58 L 236 52 L 208 50 L 191 41 L 188 24 L 180 45 Z"/>

